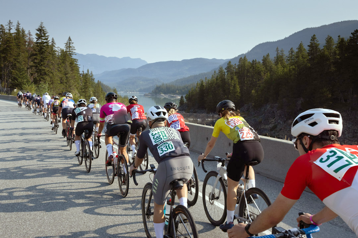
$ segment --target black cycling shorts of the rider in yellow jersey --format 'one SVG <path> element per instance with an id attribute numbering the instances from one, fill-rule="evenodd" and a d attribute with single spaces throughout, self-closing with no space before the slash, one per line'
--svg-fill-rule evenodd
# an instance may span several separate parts
<path id="1" fill-rule="evenodd" d="M 263 160 L 263 149 L 258 140 L 246 140 L 233 144 L 232 156 L 227 165 L 227 177 L 238 182 L 250 161 L 260 163 Z"/>

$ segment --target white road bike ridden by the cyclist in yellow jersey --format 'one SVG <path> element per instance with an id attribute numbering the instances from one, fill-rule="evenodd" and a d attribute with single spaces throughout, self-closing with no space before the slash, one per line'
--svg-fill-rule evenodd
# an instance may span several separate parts
<path id="1" fill-rule="evenodd" d="M 211 224 L 219 226 L 223 224 L 226 219 L 226 196 L 227 196 L 227 172 L 225 161 L 226 158 L 215 156 L 213 159 L 206 158 L 202 161 L 202 168 L 205 173 L 204 161 L 218 162 L 219 173 L 210 171 L 205 176 L 203 182 L 203 205 L 204 211 Z M 199 162 L 200 164 L 200 162 Z M 237 191 L 237 202 L 235 208 L 234 219 L 238 222 L 251 223 L 256 219 L 263 209 L 271 205 L 270 198 L 259 188 L 247 189 L 248 172 L 250 166 L 256 165 L 257 161 L 246 163 L 246 174 L 243 185 L 239 184 L 241 190 Z M 275 227 L 275 226 L 274 226 Z M 274 233 L 273 228 L 266 230 L 258 235 L 266 235 Z"/>

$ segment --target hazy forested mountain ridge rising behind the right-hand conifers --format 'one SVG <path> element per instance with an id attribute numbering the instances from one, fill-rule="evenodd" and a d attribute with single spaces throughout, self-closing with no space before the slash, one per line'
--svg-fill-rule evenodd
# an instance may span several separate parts
<path id="1" fill-rule="evenodd" d="M 355 29 L 358 29 L 358 20 L 340 21 L 329 25 L 306 28 L 282 40 L 258 44 L 247 53 L 238 55 L 235 58 L 227 60 L 221 66 L 225 68 L 228 61 L 231 61 L 232 64 L 237 64 L 239 62 L 239 59 L 241 57 L 244 57 L 245 55 L 247 60 L 249 61 L 252 61 L 253 59 L 257 59 L 261 61 L 262 57 L 266 54 L 270 54 L 271 59 L 274 59 L 276 55 L 277 47 L 280 50 L 284 49 L 285 54 L 287 55 L 291 47 L 294 48 L 294 50 L 296 50 L 297 46 L 301 43 L 301 41 L 305 46 L 305 48 L 308 49 L 309 42 L 314 34 L 316 35 L 316 38 L 319 40 L 320 48 L 322 48 L 325 45 L 325 38 L 327 37 L 327 35 L 332 36 L 335 41 L 337 41 L 338 35 L 344 37 L 345 39 L 348 39 L 349 36 L 352 36 L 351 33 Z M 196 83 L 200 79 L 205 79 L 205 77 L 211 78 L 211 75 L 213 74 L 214 70 L 217 71 L 218 69 L 219 67 L 216 67 L 205 73 L 183 77 L 171 82 L 170 84 L 183 85 L 183 84 Z"/>

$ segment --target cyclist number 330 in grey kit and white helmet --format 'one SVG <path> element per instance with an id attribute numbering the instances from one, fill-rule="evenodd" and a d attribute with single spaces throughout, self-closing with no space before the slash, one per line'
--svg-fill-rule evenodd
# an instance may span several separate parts
<path id="1" fill-rule="evenodd" d="M 184 146 L 178 130 L 165 126 L 168 113 L 162 106 L 152 106 L 147 112 L 149 130 L 139 137 L 139 148 L 130 174 L 141 164 L 149 148 L 158 169 L 153 178 L 152 192 L 154 196 L 153 224 L 157 238 L 163 238 L 165 226 L 164 205 L 171 189 L 170 183 L 175 179 L 184 179 L 184 187 L 177 190 L 180 205 L 187 207 L 188 188 L 185 184 L 193 174 L 193 162 L 189 149 Z M 179 169 L 180 168 L 180 169 Z"/>

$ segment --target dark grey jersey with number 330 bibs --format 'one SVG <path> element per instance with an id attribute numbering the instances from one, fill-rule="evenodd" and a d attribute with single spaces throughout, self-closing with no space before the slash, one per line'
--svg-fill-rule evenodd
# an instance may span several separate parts
<path id="1" fill-rule="evenodd" d="M 158 163 L 170 157 L 190 156 L 189 149 L 184 146 L 178 130 L 170 127 L 156 127 L 142 132 L 137 156 L 144 158 L 147 148 Z"/>

